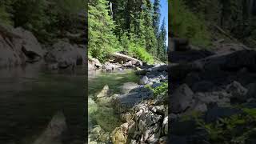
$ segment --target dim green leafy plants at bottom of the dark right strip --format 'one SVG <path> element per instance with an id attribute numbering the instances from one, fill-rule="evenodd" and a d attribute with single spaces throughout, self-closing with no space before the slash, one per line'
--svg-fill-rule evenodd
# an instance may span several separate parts
<path id="1" fill-rule="evenodd" d="M 183 116 L 182 121 L 194 119 L 199 128 L 204 128 L 208 132 L 211 143 L 243 144 L 256 130 L 256 109 L 246 108 L 242 110 L 244 114 L 234 114 L 210 123 L 204 122 L 201 117 L 202 114 L 195 111 Z"/>

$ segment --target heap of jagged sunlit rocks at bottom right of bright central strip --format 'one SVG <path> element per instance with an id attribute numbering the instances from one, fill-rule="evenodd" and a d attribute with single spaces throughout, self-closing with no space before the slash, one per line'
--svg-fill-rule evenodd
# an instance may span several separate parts
<path id="1" fill-rule="evenodd" d="M 112 142 L 133 144 L 166 142 L 168 133 L 166 106 L 153 106 L 142 102 L 130 111 L 122 114 L 125 123 L 112 132 Z"/>

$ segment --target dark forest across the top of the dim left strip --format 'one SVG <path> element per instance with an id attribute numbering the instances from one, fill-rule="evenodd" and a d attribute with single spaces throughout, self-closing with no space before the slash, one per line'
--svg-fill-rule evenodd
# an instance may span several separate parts
<path id="1" fill-rule="evenodd" d="M 30 30 L 42 43 L 85 31 L 84 0 L 2 0 L 0 20 L 6 26 Z M 84 38 L 85 34 L 83 35 Z M 80 43 L 85 43 L 85 41 Z"/>

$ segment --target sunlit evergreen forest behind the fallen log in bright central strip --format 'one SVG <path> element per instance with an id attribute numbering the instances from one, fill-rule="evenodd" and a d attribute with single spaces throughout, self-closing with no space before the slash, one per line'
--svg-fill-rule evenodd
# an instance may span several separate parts
<path id="1" fill-rule="evenodd" d="M 166 23 L 160 26 L 160 1 L 89 2 L 89 55 L 105 62 L 122 52 L 143 62 L 166 61 Z"/>

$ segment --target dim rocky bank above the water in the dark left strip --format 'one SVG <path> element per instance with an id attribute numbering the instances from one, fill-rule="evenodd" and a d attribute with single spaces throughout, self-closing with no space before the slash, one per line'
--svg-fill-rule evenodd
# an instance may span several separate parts
<path id="1" fill-rule="evenodd" d="M 86 64 L 86 46 L 70 44 L 69 39 L 59 39 L 46 46 L 21 27 L 0 24 L 0 31 L 0 68 L 42 61 L 50 70 L 73 70 L 74 66 Z"/>

